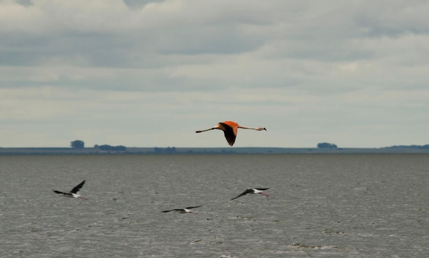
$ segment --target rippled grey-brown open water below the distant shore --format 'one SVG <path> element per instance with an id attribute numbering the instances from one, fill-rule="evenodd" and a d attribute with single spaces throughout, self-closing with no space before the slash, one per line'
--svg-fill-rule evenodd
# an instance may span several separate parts
<path id="1" fill-rule="evenodd" d="M 0 156 L 0 257 L 429 257 L 428 186 L 428 154 Z"/>

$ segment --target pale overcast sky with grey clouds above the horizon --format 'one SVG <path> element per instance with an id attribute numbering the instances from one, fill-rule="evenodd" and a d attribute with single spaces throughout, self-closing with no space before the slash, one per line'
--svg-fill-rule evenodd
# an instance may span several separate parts
<path id="1" fill-rule="evenodd" d="M 429 144 L 429 1 L 0 0 L 0 146 Z M 230 147 L 228 147 L 230 148 Z M 234 147 L 232 147 L 234 148 Z"/>

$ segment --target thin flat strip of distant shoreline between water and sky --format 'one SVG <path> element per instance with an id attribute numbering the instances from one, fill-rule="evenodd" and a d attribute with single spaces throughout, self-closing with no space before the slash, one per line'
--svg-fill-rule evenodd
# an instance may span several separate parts
<path id="1" fill-rule="evenodd" d="M 125 151 L 100 151 L 96 148 L 0 148 L 0 155 L 127 155 L 127 154 L 311 154 L 311 153 L 429 153 L 429 149 L 408 148 L 160 148 L 127 147 Z"/>

